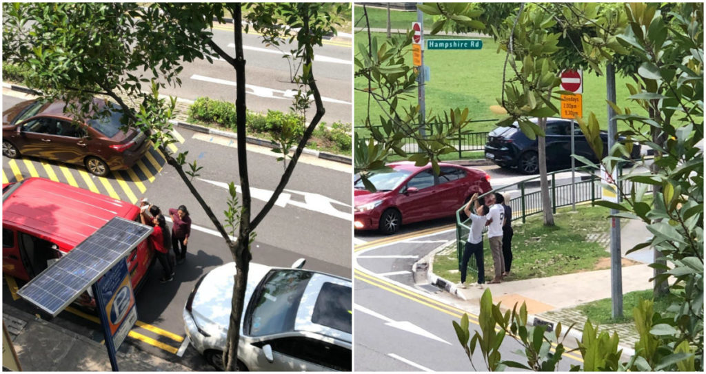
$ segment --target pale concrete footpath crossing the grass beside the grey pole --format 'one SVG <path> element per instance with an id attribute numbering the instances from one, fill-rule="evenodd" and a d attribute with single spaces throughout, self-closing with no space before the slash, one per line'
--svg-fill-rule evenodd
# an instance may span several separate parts
<path id="1" fill-rule="evenodd" d="M 647 237 L 652 236 L 643 222 L 635 220 L 622 220 L 621 227 L 621 248 L 623 258 L 637 261 L 639 265 L 622 267 L 623 294 L 631 291 L 642 291 L 652 288 L 652 267 L 647 266 L 652 262 L 652 250 L 643 248 L 635 253 L 626 255 L 626 251 L 633 248 L 638 243 L 642 243 Z M 609 246 L 610 237 L 597 236 L 594 241 Z M 607 241 L 606 241 L 607 239 Z M 431 260 L 430 260 L 431 261 Z M 436 277 L 431 275 L 431 277 Z M 441 279 L 439 279 L 441 280 Z M 438 282 L 438 281 L 437 281 Z M 443 281 L 441 282 L 443 283 Z M 469 286 L 467 289 L 457 289 L 455 284 L 450 285 L 446 290 L 462 299 L 462 303 L 470 310 L 479 310 L 480 298 L 485 289 L 477 289 Z M 611 297 L 611 270 L 595 270 L 591 272 L 578 272 L 568 275 L 557 275 L 555 277 L 524 279 L 500 284 L 486 284 L 486 288 L 493 293 L 493 303 L 502 302 L 502 307 L 512 309 L 515 303 L 521 305 L 525 302 L 527 313 L 530 315 L 528 321 L 534 318 L 561 325 L 566 329 L 575 323 L 575 337 L 580 337 L 580 331 L 586 322 L 582 313 L 573 310 L 573 307 L 582 303 L 596 301 L 602 298 Z M 632 313 L 631 310 L 623 310 L 623 313 Z M 533 318 L 534 317 L 534 318 Z M 604 325 L 601 330 L 607 329 L 612 334 L 618 332 L 621 339 L 621 346 L 626 348 L 626 352 L 631 352 L 634 343 L 639 339 L 633 322 L 618 325 Z"/>

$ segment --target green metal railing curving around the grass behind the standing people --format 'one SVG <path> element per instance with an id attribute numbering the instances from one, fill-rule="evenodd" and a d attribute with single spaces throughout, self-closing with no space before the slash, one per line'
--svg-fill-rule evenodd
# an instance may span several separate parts
<path id="1" fill-rule="evenodd" d="M 551 209 L 554 213 L 556 213 L 556 208 L 557 207 L 566 207 L 568 205 L 572 205 L 573 203 L 584 203 L 586 201 L 590 201 L 591 205 L 594 205 L 596 200 L 601 200 L 602 199 L 602 191 L 603 187 L 600 184 L 600 174 L 599 171 L 596 169 L 592 169 L 589 167 L 580 167 L 576 168 L 576 172 L 581 173 L 580 175 L 577 175 L 581 180 L 575 183 L 568 183 L 568 184 L 561 184 L 559 186 L 556 185 L 556 174 L 559 173 L 566 173 L 567 171 L 571 171 L 570 169 L 568 170 L 560 170 L 560 171 L 553 171 L 549 174 L 547 174 L 547 178 L 549 179 L 549 196 L 551 200 Z M 588 175 L 586 175 L 588 173 Z M 623 193 L 629 193 L 629 191 L 632 191 L 632 184 L 633 182 L 630 181 L 623 181 L 621 180 L 620 176 L 623 174 L 623 170 L 621 168 L 618 168 L 618 183 L 620 183 L 620 186 L 618 186 L 619 191 L 623 191 Z M 528 184 L 534 184 L 537 185 L 539 183 L 539 176 L 534 176 L 530 179 L 525 179 L 523 181 L 520 181 L 518 183 L 513 183 L 508 186 L 505 186 L 503 188 L 498 188 L 496 190 L 489 191 L 487 193 L 484 193 L 480 197 L 483 197 L 485 195 L 488 195 L 489 193 L 496 193 L 496 192 L 502 192 L 506 191 L 509 189 L 514 189 L 515 186 L 520 191 L 520 195 L 517 196 L 516 198 L 505 200 L 505 204 L 510 205 L 510 207 L 513 210 L 512 217 L 510 218 L 512 221 L 515 221 L 517 219 L 521 219 L 522 223 L 525 223 L 527 221 L 527 217 L 531 215 L 538 215 L 543 212 L 543 207 L 542 207 L 542 191 L 533 191 L 533 192 L 527 192 L 526 188 Z M 635 191 L 637 191 L 637 185 L 641 183 L 635 183 Z M 572 199 L 572 186 L 576 186 L 576 200 L 575 202 Z M 651 191 L 651 185 L 647 186 L 647 191 Z M 463 214 L 463 207 L 460 207 L 456 211 L 456 252 L 458 256 L 458 269 L 461 269 L 461 260 L 463 256 L 463 248 L 466 245 L 466 239 L 468 238 L 468 232 L 470 231 L 469 227 L 469 219 L 462 220 L 461 215 Z M 487 230 L 487 228 L 484 228 L 484 232 Z M 468 262 L 468 271 L 476 272 L 477 267 L 475 260 L 472 258 Z"/>

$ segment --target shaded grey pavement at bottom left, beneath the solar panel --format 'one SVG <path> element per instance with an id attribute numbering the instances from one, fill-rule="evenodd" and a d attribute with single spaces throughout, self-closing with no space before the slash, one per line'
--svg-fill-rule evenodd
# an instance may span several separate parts
<path id="1" fill-rule="evenodd" d="M 3 305 L 3 320 L 23 371 L 111 371 L 103 344 L 13 306 Z M 116 354 L 120 371 L 192 371 L 123 343 Z"/>

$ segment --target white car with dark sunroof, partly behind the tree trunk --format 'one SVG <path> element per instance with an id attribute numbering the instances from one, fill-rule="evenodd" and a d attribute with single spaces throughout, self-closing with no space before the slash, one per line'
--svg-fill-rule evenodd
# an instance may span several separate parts
<path id="1" fill-rule="evenodd" d="M 251 263 L 240 326 L 241 370 L 352 370 L 350 279 Z M 199 279 L 184 308 L 191 345 L 222 370 L 235 263 Z"/>

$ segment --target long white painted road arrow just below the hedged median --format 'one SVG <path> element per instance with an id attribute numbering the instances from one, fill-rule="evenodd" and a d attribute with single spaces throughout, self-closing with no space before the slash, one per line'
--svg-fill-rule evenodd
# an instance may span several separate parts
<path id="1" fill-rule="evenodd" d="M 214 186 L 228 189 L 228 183 L 209 181 L 208 179 L 201 178 L 198 178 L 198 180 L 204 181 L 206 183 L 211 183 Z M 236 185 L 235 187 L 238 193 L 243 192 L 241 186 Z M 306 210 L 323 213 L 325 215 L 330 215 L 332 217 L 337 217 L 340 219 L 346 219 L 347 221 L 353 220 L 353 215 L 350 212 L 350 205 L 333 200 L 332 198 L 327 198 L 326 196 L 319 195 L 318 193 L 308 193 L 292 190 L 285 191 L 289 191 L 291 193 L 282 192 L 280 194 L 280 196 L 277 198 L 277 201 L 275 202 L 275 205 L 277 205 L 278 207 L 287 207 L 287 205 L 294 205 L 295 207 L 302 207 Z M 252 198 L 265 202 L 270 200 L 274 193 L 275 191 L 263 190 L 262 188 L 250 188 L 250 194 Z M 292 193 L 304 195 L 304 203 L 292 200 Z M 336 208 L 333 207 L 332 203 L 342 205 L 343 207 L 348 207 L 348 212 L 341 212 L 340 210 L 336 210 Z"/>

